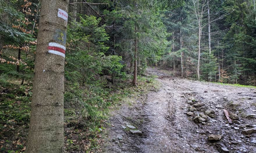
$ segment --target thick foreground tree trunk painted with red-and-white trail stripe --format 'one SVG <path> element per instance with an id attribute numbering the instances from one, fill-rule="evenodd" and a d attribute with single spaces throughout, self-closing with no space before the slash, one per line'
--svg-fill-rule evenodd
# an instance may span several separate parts
<path id="1" fill-rule="evenodd" d="M 41 3 L 26 153 L 61 153 L 64 151 L 64 62 L 69 1 Z"/>

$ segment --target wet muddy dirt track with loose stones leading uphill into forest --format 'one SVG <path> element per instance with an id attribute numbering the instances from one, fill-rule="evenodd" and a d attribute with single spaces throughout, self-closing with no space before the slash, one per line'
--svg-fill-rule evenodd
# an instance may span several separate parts
<path id="1" fill-rule="evenodd" d="M 256 114 L 256 89 L 172 78 L 153 68 L 148 68 L 147 74 L 158 75 L 161 88 L 113 112 L 104 152 L 256 152 L 256 133 L 242 133 L 256 127 L 256 118 L 249 115 Z M 196 111 L 188 116 L 193 106 Z M 239 118 L 228 123 L 224 109 Z M 195 123 L 193 119 L 207 110 L 214 115 Z M 131 134 L 130 130 L 142 134 Z M 209 135 L 221 135 L 221 140 L 210 142 Z"/>

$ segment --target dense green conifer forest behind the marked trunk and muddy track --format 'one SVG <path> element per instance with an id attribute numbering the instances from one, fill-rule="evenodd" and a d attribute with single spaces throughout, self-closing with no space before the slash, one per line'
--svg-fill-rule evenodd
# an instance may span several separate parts
<path id="1" fill-rule="evenodd" d="M 91 136 L 127 86 L 152 83 L 143 78 L 149 65 L 256 86 L 254 0 L 70 0 L 68 13 L 59 36 L 67 38 L 64 113 L 70 127 L 96 127 Z M 39 17 L 40 0 L 0 0 L 1 129 L 29 122 Z"/>

